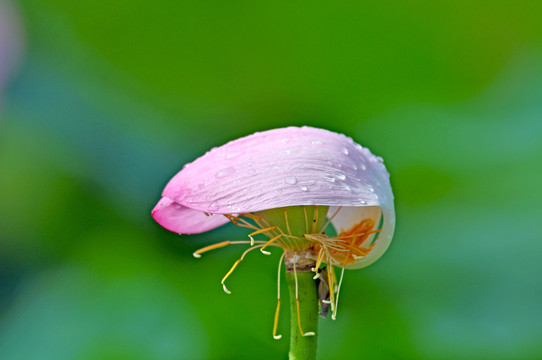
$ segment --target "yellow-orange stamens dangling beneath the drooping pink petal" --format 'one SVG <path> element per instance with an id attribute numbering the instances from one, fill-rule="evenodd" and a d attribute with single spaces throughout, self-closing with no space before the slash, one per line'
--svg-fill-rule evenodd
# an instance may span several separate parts
<path id="1" fill-rule="evenodd" d="M 305 229 L 302 236 L 293 235 L 290 228 L 290 220 L 288 218 L 287 208 L 282 208 L 284 212 L 283 227 L 278 225 L 271 225 L 264 217 L 253 214 L 243 213 L 239 215 L 225 214 L 232 223 L 237 226 L 244 227 L 253 230 L 249 235 L 247 241 L 223 241 L 217 244 L 209 245 L 194 252 L 194 256 L 201 257 L 201 254 L 213 249 L 218 249 L 232 244 L 250 244 L 250 247 L 246 249 L 241 257 L 233 264 L 231 269 L 226 273 L 221 283 L 224 291 L 227 294 L 231 294 L 225 285 L 226 279 L 233 273 L 235 268 L 239 265 L 245 256 L 255 249 L 265 255 L 270 255 L 271 252 L 266 249 L 269 247 L 280 247 L 284 250 L 284 253 L 279 260 L 278 268 L 278 281 L 277 281 L 277 309 L 275 311 L 275 320 L 273 325 L 273 337 L 280 339 L 281 335 L 277 335 L 277 326 L 280 313 L 280 271 L 282 262 L 285 257 L 290 262 L 290 268 L 293 270 L 295 276 L 296 285 L 296 303 L 297 303 L 297 318 L 299 331 L 303 336 L 314 335 L 314 332 L 304 332 L 300 322 L 299 315 L 299 298 L 297 291 L 297 269 L 301 266 L 301 262 L 312 264 L 310 270 L 315 273 L 314 279 L 318 279 L 321 273 L 327 274 L 325 278 L 321 278 L 321 281 L 326 282 L 329 288 L 329 294 L 325 298 L 320 298 L 322 304 L 329 304 L 331 306 L 331 318 L 336 319 L 337 316 L 337 304 L 339 300 L 339 292 L 344 276 L 345 266 L 358 261 L 366 256 L 373 248 L 374 242 L 366 246 L 367 239 L 371 234 L 377 233 L 381 230 L 373 230 L 374 221 L 372 219 L 364 219 L 360 223 L 353 226 L 347 231 L 341 231 L 335 237 L 329 237 L 325 231 L 331 224 L 333 218 L 339 213 L 341 207 L 339 207 L 331 217 L 329 217 L 320 229 L 317 229 L 318 224 L 323 220 L 319 219 L 318 206 L 314 205 L 314 212 L 312 218 L 309 218 L 307 209 L 302 206 Z M 210 214 L 209 214 L 210 215 Z M 268 240 L 255 240 L 254 236 L 264 235 Z M 303 256 L 299 256 L 301 254 Z M 327 271 L 321 272 L 320 267 L 322 264 L 327 264 Z M 333 266 L 341 267 L 341 275 L 337 281 Z"/>

